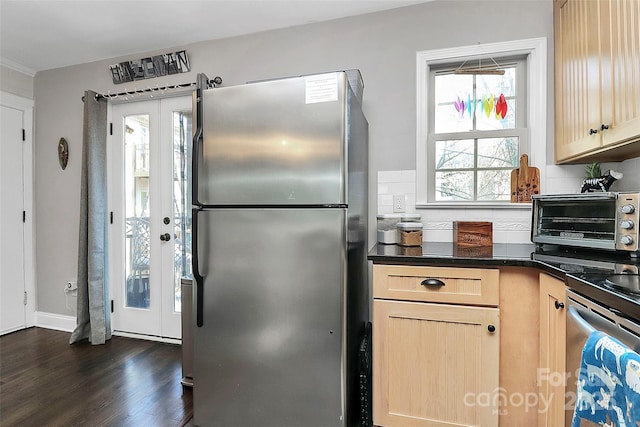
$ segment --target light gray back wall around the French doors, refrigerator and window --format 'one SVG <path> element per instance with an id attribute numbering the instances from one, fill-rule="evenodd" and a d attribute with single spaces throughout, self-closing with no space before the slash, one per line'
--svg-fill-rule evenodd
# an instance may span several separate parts
<path id="1" fill-rule="evenodd" d="M 215 13 L 215 12 L 211 12 Z M 141 33 L 141 37 L 144 32 Z M 382 13 L 310 24 L 184 46 L 192 72 L 126 85 L 111 83 L 108 65 L 141 58 L 83 64 L 39 72 L 35 77 L 35 200 L 37 310 L 73 315 L 62 292 L 76 276 L 78 199 L 85 89 L 121 92 L 195 80 L 197 72 L 221 76 L 225 85 L 248 80 L 359 68 L 363 108 L 370 125 L 370 226 L 375 227 L 379 170 L 415 169 L 416 52 L 505 40 L 548 39 L 549 100 L 553 99 L 552 0 L 435 1 Z M 172 51 L 167 46 L 162 52 Z M 553 108 L 547 122 L 553 144 Z M 69 142 L 60 169 L 56 144 Z M 73 301 L 75 303 L 75 300 Z"/>

